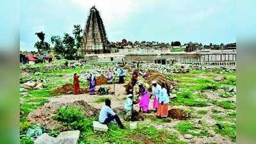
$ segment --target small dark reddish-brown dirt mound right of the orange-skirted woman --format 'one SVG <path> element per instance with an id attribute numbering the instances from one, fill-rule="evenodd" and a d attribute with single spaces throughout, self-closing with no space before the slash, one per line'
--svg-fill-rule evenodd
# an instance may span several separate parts
<path id="1" fill-rule="evenodd" d="M 173 119 L 179 119 L 179 120 L 187 120 L 190 118 L 190 113 L 185 113 L 182 109 L 170 109 L 168 111 L 168 116 Z"/>

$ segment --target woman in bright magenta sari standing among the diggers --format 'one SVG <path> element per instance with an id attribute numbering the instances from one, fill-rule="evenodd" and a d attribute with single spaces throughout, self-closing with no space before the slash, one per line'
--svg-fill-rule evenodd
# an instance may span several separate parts
<path id="1" fill-rule="evenodd" d="M 139 112 L 141 112 L 142 109 L 143 113 L 149 113 L 149 93 L 148 90 L 146 90 L 146 88 L 143 86 L 143 84 L 139 84 L 139 94 L 141 95 L 141 99 L 139 101 Z"/>

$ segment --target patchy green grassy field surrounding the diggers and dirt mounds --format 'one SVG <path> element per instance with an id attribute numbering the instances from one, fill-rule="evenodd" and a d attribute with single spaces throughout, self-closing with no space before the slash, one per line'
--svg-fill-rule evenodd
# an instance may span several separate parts
<path id="1" fill-rule="evenodd" d="M 62 61 L 63 63 L 63 61 Z M 60 64 L 60 63 L 58 63 Z M 67 68 L 59 70 L 45 70 L 44 65 L 33 65 L 39 67 L 38 72 L 42 74 L 21 74 L 21 79 L 46 79 L 45 88 L 42 90 L 28 90 L 21 92 L 21 111 L 24 113 L 21 117 L 21 134 L 26 129 L 33 127 L 35 124 L 27 122 L 28 114 L 43 106 L 51 97 L 51 91 L 63 84 L 73 81 L 74 72 L 80 74 L 82 71 L 90 70 L 90 65 L 76 68 Z M 101 67 L 111 67 L 109 65 L 101 65 Z M 171 99 L 169 105 L 172 107 L 182 107 L 185 111 L 191 113 L 192 118 L 189 120 L 173 120 L 171 118 L 159 119 L 155 116 L 148 116 L 143 122 L 138 123 L 138 128 L 131 130 L 129 128 L 119 129 L 117 125 L 108 125 L 108 132 L 94 133 L 92 129 L 92 121 L 98 117 L 86 117 L 82 115 L 79 108 L 60 109 L 57 120 L 62 125 L 68 125 L 72 129 L 81 131 L 79 143 L 189 143 L 189 141 L 181 140 L 180 136 L 184 134 L 192 134 L 195 138 L 213 138 L 214 134 L 220 134 L 223 138 L 235 142 L 236 139 L 236 103 L 235 93 L 226 92 L 221 89 L 236 85 L 235 72 L 219 73 L 218 70 L 191 70 L 186 74 L 171 74 L 170 79 L 176 79 L 178 86 L 172 93 L 177 95 L 176 99 Z M 214 77 L 222 76 L 225 81 L 216 82 Z M 67 77 L 67 78 L 64 78 Z M 87 83 L 81 83 L 81 87 L 87 86 Z M 209 93 L 213 93 L 214 98 L 209 97 Z M 94 102 L 104 102 L 105 98 L 95 99 Z M 233 101 L 232 101 L 233 100 Z M 205 116 L 210 116 L 212 120 L 220 124 L 223 129 L 219 129 L 215 124 L 209 124 Z M 71 120 L 69 122 L 69 120 Z M 195 121 L 201 120 L 201 124 Z M 129 122 L 125 122 L 126 127 Z M 168 125 L 173 125 L 169 127 Z M 160 128 L 159 128 L 160 127 Z M 211 132 L 213 131 L 213 132 Z M 54 129 L 51 134 L 55 136 L 59 130 Z M 211 141 L 217 143 L 217 141 Z M 33 143 L 33 140 L 24 136 L 21 137 L 21 143 Z"/>

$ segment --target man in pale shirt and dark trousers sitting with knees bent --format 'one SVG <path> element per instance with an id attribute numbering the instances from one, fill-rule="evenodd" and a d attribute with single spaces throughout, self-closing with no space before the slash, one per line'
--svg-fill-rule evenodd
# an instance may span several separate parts
<path id="1" fill-rule="evenodd" d="M 112 120 L 115 120 L 115 122 L 117 122 L 119 127 L 121 129 L 124 129 L 124 125 L 122 124 L 119 116 L 117 116 L 117 114 L 115 114 L 114 111 L 112 111 L 110 105 L 111 105 L 110 99 L 106 99 L 105 106 L 102 106 L 101 111 L 99 112 L 99 122 L 101 124 L 108 124 Z"/>

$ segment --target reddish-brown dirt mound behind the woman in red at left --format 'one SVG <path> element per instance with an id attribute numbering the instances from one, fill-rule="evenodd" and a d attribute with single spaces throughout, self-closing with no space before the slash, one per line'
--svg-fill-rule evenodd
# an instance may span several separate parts
<path id="1" fill-rule="evenodd" d="M 73 93 L 74 85 L 71 83 L 64 84 L 64 86 L 58 87 L 51 92 L 51 94 L 71 94 Z M 86 88 L 80 88 L 81 93 L 88 93 Z"/>

